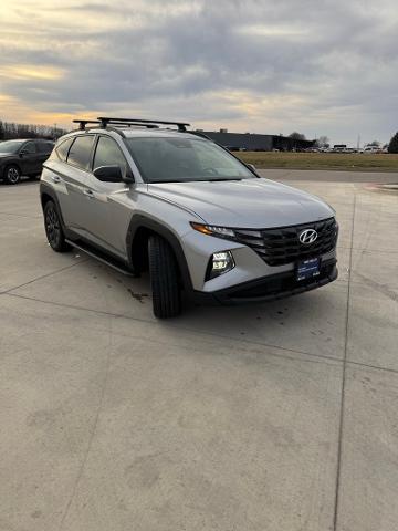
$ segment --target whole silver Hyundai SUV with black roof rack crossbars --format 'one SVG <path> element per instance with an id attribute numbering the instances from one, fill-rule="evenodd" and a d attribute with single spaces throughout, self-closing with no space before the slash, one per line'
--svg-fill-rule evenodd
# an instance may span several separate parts
<path id="1" fill-rule="evenodd" d="M 338 226 L 321 199 L 261 178 L 189 124 L 76 122 L 41 176 L 49 242 L 149 270 L 157 317 L 179 314 L 182 293 L 265 301 L 337 278 Z"/>

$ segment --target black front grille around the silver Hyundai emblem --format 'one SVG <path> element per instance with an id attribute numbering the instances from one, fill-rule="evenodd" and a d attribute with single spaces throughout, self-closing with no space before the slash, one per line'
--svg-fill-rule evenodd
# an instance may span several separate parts
<path id="1" fill-rule="evenodd" d="M 305 229 L 316 230 L 317 238 L 313 243 L 300 241 L 298 236 Z M 338 226 L 335 218 L 328 218 L 276 229 L 233 230 L 237 240 L 253 249 L 269 266 L 284 266 L 331 252 L 337 243 Z"/>

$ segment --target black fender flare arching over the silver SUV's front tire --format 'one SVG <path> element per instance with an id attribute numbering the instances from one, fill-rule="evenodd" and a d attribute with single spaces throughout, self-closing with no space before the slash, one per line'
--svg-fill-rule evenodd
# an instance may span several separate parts
<path id="1" fill-rule="evenodd" d="M 167 227 L 165 227 L 160 222 L 158 222 L 158 221 L 156 221 L 156 220 L 154 220 L 154 219 L 151 219 L 147 216 L 143 216 L 140 214 L 137 214 L 137 215 L 133 216 L 133 218 L 129 222 L 129 226 L 128 226 L 128 230 L 127 230 L 126 249 L 127 249 L 128 262 L 129 262 L 130 267 L 133 268 L 133 263 L 134 263 L 134 260 L 133 260 L 134 238 L 135 238 L 135 235 L 136 235 L 137 230 L 142 229 L 142 228 L 148 229 L 148 230 L 150 230 L 153 232 L 156 232 L 157 235 L 161 236 L 163 238 L 165 238 L 165 240 L 169 243 L 169 246 L 171 247 L 171 249 L 175 253 L 175 257 L 176 257 L 176 260 L 177 260 L 180 273 L 181 273 L 181 280 L 182 280 L 184 289 L 188 292 L 193 291 L 192 281 L 191 281 L 191 277 L 190 277 L 190 273 L 189 273 L 187 259 L 186 259 L 182 246 L 181 246 L 180 241 L 178 240 L 178 238 L 176 237 L 176 235 L 174 235 L 170 229 L 168 229 Z"/>

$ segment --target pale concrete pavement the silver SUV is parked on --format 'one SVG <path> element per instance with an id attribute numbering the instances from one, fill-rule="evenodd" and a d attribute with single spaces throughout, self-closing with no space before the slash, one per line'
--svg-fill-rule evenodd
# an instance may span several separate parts
<path id="1" fill-rule="evenodd" d="M 338 281 L 167 322 L 0 186 L 1 531 L 397 529 L 398 195 L 264 174 L 336 208 Z"/>

